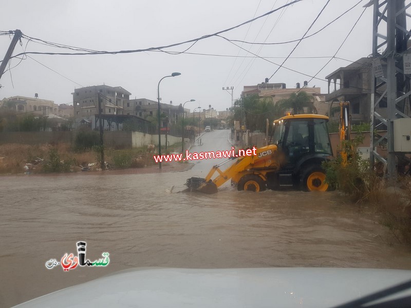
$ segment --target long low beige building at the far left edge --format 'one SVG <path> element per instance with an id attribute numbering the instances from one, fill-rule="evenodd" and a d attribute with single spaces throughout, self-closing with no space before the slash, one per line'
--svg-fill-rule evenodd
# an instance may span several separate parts
<path id="1" fill-rule="evenodd" d="M 34 115 L 58 115 L 59 112 L 59 106 L 54 104 L 54 101 L 39 99 L 37 93 L 35 93 L 34 98 L 23 96 L 4 98 L 0 104 L 2 107 L 8 107 L 17 112 L 30 112 Z"/>

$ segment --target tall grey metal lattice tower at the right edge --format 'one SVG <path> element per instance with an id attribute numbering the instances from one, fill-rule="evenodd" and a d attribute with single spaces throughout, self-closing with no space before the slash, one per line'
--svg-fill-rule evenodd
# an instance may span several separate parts
<path id="1" fill-rule="evenodd" d="M 410 75 L 404 74 L 404 55 L 407 55 L 407 42 L 411 30 L 406 27 L 407 12 L 411 1 L 371 0 L 366 6 L 373 5 L 372 27 L 372 78 L 371 78 L 371 126 L 370 126 L 370 162 L 375 158 L 387 168 L 387 178 L 393 183 L 397 178 L 396 153 L 394 152 L 394 120 L 409 118 L 411 102 Z M 410 10 L 411 11 L 411 10 Z M 377 106 L 386 106 L 386 114 L 376 110 Z M 375 130 L 387 132 L 379 139 Z M 387 159 L 376 151 L 378 143 L 386 140 Z"/>

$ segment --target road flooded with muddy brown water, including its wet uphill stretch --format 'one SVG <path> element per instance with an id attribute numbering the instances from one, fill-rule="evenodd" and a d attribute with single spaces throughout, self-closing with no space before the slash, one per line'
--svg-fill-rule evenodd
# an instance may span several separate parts
<path id="1" fill-rule="evenodd" d="M 191 152 L 229 149 L 227 135 L 207 133 Z M 0 178 L 0 306 L 132 267 L 411 269 L 409 249 L 379 217 L 337 192 L 254 193 L 226 183 L 211 196 L 177 193 L 216 161 L 162 174 Z M 109 265 L 46 269 L 77 254 L 78 241 L 90 260 L 109 252 Z"/>

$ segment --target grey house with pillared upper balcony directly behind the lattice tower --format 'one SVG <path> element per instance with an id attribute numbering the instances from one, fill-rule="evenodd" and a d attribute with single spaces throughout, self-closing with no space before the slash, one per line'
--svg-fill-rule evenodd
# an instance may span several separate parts
<path id="1" fill-rule="evenodd" d="M 353 124 L 370 121 L 371 106 L 371 70 L 372 59 L 362 57 L 346 67 L 333 71 L 328 80 L 328 94 L 325 100 L 329 105 L 328 114 L 337 119 L 339 117 L 339 103 L 350 102 L 351 122 Z M 330 89 L 331 84 L 333 89 Z M 384 91 L 384 88 L 380 88 Z M 387 101 L 381 100 L 376 111 L 383 117 L 387 114 Z M 335 112 L 337 111 L 338 112 Z"/>

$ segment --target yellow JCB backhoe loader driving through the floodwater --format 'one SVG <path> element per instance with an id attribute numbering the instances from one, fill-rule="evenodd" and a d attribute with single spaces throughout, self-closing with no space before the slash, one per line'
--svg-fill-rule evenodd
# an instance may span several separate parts
<path id="1" fill-rule="evenodd" d="M 188 179 L 188 190 L 214 194 L 231 179 L 238 190 L 295 187 L 325 191 L 328 184 L 322 162 L 332 158 L 327 122 L 324 115 L 286 115 L 274 121 L 272 144 L 257 148 L 256 155 L 235 158 L 225 170 L 220 167 L 231 159 L 215 165 L 204 179 Z"/>

